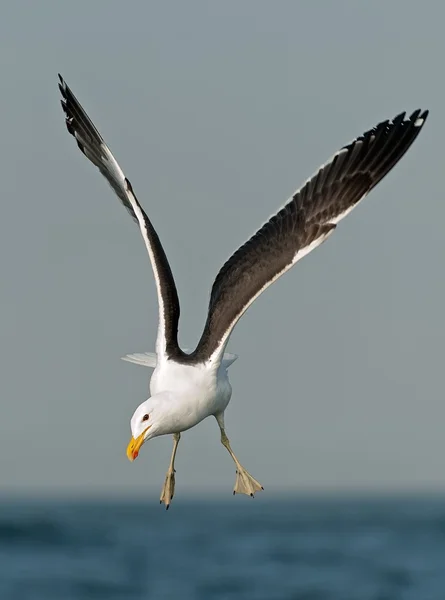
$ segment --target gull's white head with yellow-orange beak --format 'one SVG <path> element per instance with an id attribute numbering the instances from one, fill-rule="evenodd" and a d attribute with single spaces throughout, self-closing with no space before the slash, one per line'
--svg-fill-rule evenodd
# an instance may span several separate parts
<path id="1" fill-rule="evenodd" d="M 151 438 L 174 433 L 174 403 L 169 393 L 156 394 L 142 402 L 131 417 L 132 438 L 127 447 L 127 457 L 137 458 L 141 446 Z"/>

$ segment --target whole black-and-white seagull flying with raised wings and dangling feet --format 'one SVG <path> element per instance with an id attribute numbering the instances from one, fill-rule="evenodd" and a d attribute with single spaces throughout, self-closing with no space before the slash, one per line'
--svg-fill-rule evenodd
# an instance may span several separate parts
<path id="1" fill-rule="evenodd" d="M 320 246 L 391 171 L 418 136 L 428 111 L 418 109 L 408 118 L 403 112 L 382 121 L 321 166 L 221 268 L 211 289 L 201 338 L 193 351 L 186 351 L 178 344 L 178 293 L 158 234 L 99 131 L 60 75 L 59 79 L 68 132 L 138 224 L 156 282 L 156 352 L 124 357 L 154 367 L 150 398 L 131 417 L 127 457 L 135 460 L 142 445 L 152 438 L 173 435 L 173 451 L 160 497 L 168 509 L 175 491 L 175 457 L 181 433 L 213 416 L 221 443 L 235 463 L 233 493 L 253 497 L 264 488 L 236 457 L 224 425 L 224 412 L 232 395 L 227 370 L 237 358 L 225 352 L 233 328 L 266 288 Z"/>

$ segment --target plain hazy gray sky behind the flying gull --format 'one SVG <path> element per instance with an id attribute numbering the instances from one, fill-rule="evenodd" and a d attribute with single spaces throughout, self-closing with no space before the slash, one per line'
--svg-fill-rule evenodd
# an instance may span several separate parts
<path id="1" fill-rule="evenodd" d="M 0 23 L 0 491 L 159 494 L 127 461 L 157 304 L 139 232 L 77 150 L 60 71 L 152 218 L 197 342 L 230 253 L 341 145 L 429 108 L 409 153 L 270 288 L 228 348 L 234 450 L 267 488 L 443 489 L 442 2 L 8 3 Z M 177 496 L 230 494 L 208 419 Z M 224 497 L 224 496 L 223 496 Z M 229 496 L 227 496 L 229 497 Z"/>

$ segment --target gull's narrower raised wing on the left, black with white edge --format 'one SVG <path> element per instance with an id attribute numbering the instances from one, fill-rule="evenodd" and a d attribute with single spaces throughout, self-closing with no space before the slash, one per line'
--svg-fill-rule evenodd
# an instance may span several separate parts
<path id="1" fill-rule="evenodd" d="M 159 326 L 156 353 L 159 357 L 170 357 L 181 353 L 178 348 L 179 300 L 175 281 L 159 237 L 139 204 L 130 182 L 125 177 L 102 136 L 93 125 L 78 100 L 59 75 L 62 108 L 66 115 L 66 126 L 77 141 L 85 156 L 98 167 L 122 204 L 138 223 L 147 247 L 156 281 L 159 303 Z"/>

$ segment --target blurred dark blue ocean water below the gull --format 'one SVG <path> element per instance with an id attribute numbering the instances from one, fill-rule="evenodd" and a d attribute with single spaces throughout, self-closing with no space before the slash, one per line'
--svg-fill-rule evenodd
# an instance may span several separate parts
<path id="1" fill-rule="evenodd" d="M 1 600 L 445 600 L 445 498 L 0 511 Z"/>

